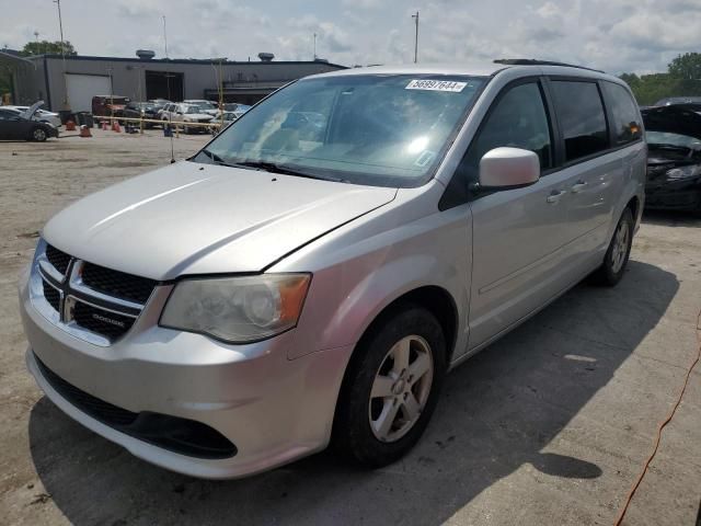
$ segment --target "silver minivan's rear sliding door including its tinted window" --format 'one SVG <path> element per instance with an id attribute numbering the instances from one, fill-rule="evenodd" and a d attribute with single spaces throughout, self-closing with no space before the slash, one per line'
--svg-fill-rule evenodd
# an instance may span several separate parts
<path id="1" fill-rule="evenodd" d="M 611 150 L 599 84 L 589 79 L 551 79 L 553 107 L 562 136 L 563 176 L 570 192 L 567 229 L 573 239 L 568 265 L 608 243 L 608 227 L 620 195 L 622 162 Z"/>

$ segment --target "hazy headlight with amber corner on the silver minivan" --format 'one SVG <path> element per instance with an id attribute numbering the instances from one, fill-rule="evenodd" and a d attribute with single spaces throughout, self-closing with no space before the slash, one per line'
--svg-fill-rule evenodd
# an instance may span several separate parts
<path id="1" fill-rule="evenodd" d="M 265 340 L 297 324 L 310 282 L 310 274 L 185 279 L 160 324 L 229 343 Z"/>

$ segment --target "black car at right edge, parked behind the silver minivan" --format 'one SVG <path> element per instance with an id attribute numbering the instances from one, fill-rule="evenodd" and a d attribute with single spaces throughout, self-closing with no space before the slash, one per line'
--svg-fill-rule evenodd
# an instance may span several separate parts
<path id="1" fill-rule="evenodd" d="M 701 104 L 643 110 L 645 207 L 701 213 Z"/>

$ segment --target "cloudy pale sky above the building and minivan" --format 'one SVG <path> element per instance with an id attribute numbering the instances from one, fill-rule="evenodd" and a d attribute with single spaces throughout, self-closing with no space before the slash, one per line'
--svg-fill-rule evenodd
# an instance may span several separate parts
<path id="1" fill-rule="evenodd" d="M 317 55 L 345 66 L 542 58 L 612 73 L 665 71 L 701 50 L 701 0 L 61 0 L 64 35 L 81 55 L 278 60 Z M 51 0 L 0 0 L 0 47 L 59 37 Z"/>

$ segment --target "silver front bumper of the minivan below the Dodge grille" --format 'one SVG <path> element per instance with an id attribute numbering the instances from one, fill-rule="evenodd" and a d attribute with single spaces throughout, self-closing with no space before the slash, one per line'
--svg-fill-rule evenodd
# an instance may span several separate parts
<path id="1" fill-rule="evenodd" d="M 165 288 L 165 287 L 164 287 Z M 135 456 L 200 478 L 238 478 L 323 449 L 352 347 L 288 359 L 295 331 L 250 345 L 226 345 L 206 336 L 157 325 L 156 293 L 130 332 L 99 346 L 58 329 L 20 288 L 26 363 L 46 396 L 85 427 Z M 156 307 L 156 308 L 151 308 Z M 60 379 L 134 413 L 159 413 L 195 421 L 235 446 L 229 458 L 199 458 L 136 438 L 71 403 L 49 381 L 38 359 Z"/>

